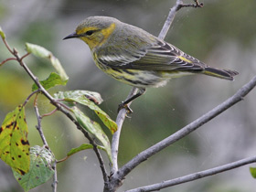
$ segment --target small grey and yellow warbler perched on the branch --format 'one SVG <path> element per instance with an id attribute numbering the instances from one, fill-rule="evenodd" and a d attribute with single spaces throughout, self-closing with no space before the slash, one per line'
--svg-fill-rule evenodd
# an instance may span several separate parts
<path id="1" fill-rule="evenodd" d="M 127 104 L 144 94 L 146 88 L 165 86 L 173 78 L 204 74 L 233 80 L 239 74 L 235 70 L 209 67 L 144 29 L 110 16 L 85 18 L 63 40 L 69 38 L 80 38 L 89 46 L 99 69 L 115 80 L 138 88 L 135 95 L 121 103 L 119 110 L 128 109 Z"/>

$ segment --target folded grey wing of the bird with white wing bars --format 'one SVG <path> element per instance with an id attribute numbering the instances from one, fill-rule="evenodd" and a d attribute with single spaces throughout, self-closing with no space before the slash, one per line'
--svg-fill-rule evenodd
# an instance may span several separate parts
<path id="1" fill-rule="evenodd" d="M 101 64 L 117 69 L 201 70 L 206 65 L 173 45 L 158 40 L 149 48 L 115 51 L 98 58 Z"/>

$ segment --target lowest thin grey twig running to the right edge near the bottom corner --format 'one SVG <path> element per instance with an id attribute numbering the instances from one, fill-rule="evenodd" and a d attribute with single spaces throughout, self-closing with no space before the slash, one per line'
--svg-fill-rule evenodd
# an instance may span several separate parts
<path id="1" fill-rule="evenodd" d="M 229 171 L 231 169 L 234 168 L 238 168 L 240 166 L 243 165 L 248 165 L 248 164 L 252 164 L 256 162 L 256 156 L 252 156 L 249 158 L 244 158 L 241 159 L 239 161 L 236 162 L 232 162 L 226 165 L 220 165 L 214 168 L 210 168 L 208 170 L 205 171 L 200 171 L 194 174 L 190 174 L 187 176 L 180 176 L 171 180 L 167 180 L 167 181 L 163 181 L 161 183 L 157 183 L 157 184 L 153 184 L 150 186 L 145 186 L 145 187 L 138 187 L 138 188 L 134 188 L 131 190 L 127 190 L 126 192 L 149 192 L 149 191 L 159 191 L 162 188 L 165 187 L 172 187 L 172 186 L 176 186 L 178 184 L 183 184 L 183 183 L 187 183 L 189 181 L 194 181 L 206 176 L 213 176 L 219 173 L 222 173 L 224 171 Z"/>

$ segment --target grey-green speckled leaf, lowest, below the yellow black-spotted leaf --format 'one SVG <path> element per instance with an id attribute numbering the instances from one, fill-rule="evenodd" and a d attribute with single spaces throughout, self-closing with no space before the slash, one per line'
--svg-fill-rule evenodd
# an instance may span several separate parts
<path id="1" fill-rule="evenodd" d="M 55 161 L 54 156 L 48 149 L 40 146 L 33 146 L 30 149 L 30 168 L 29 172 L 21 176 L 14 171 L 17 182 L 25 191 L 37 187 L 53 176 L 54 170 L 52 164 Z"/>

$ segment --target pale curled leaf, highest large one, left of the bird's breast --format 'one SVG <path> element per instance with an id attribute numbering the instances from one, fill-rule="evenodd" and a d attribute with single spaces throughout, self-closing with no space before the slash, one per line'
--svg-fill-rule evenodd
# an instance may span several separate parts
<path id="1" fill-rule="evenodd" d="M 26 49 L 28 53 L 32 53 L 33 55 L 39 57 L 39 58 L 45 58 L 49 59 L 52 66 L 57 70 L 59 73 L 59 76 L 61 80 L 69 80 L 69 77 L 67 76 L 65 70 L 62 68 L 59 59 L 55 58 L 53 54 L 48 51 L 48 49 L 43 48 L 41 46 L 37 46 L 35 44 L 26 43 Z"/>

